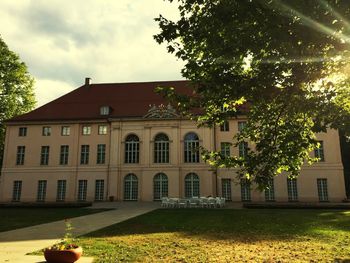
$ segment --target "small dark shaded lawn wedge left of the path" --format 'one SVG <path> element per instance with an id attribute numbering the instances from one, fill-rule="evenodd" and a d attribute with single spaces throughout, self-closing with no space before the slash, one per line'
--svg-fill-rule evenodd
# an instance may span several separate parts
<path id="1" fill-rule="evenodd" d="M 84 208 L 0 208 L 0 232 L 105 211 Z"/>

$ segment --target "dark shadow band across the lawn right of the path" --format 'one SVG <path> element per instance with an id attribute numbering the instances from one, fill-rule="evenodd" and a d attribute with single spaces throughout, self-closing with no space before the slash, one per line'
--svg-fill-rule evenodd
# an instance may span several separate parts
<path id="1" fill-rule="evenodd" d="M 159 209 L 84 237 L 178 232 L 215 240 L 254 242 L 295 237 L 327 237 L 349 231 L 350 211 L 299 209 Z M 349 237 L 350 238 L 350 237 Z"/>

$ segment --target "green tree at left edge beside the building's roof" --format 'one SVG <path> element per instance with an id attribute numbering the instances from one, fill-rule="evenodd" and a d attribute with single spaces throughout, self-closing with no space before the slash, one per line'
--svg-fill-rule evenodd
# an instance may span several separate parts
<path id="1" fill-rule="evenodd" d="M 27 66 L 0 37 L 0 168 L 5 140 L 4 121 L 34 108 L 33 83 Z"/>

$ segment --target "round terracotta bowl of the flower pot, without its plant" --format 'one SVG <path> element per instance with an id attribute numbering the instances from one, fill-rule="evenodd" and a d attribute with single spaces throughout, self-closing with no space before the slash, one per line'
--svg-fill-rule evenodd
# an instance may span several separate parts
<path id="1" fill-rule="evenodd" d="M 48 263 L 73 263 L 77 261 L 82 254 L 82 247 L 65 250 L 45 249 L 44 251 L 44 256 Z"/>

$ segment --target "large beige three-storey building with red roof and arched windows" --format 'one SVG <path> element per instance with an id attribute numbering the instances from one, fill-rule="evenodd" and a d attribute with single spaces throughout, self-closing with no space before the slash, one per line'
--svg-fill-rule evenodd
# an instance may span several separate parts
<path id="1" fill-rule="evenodd" d="M 244 119 L 197 128 L 157 94 L 184 91 L 186 81 L 85 85 L 9 120 L 0 202 L 159 200 L 162 196 L 223 196 L 232 201 L 342 201 L 338 132 L 318 134 L 322 147 L 297 180 L 280 175 L 266 192 L 238 181 L 234 169 L 213 169 L 196 149 L 244 155 L 232 137 Z M 165 106 L 164 106 L 165 105 Z"/>

